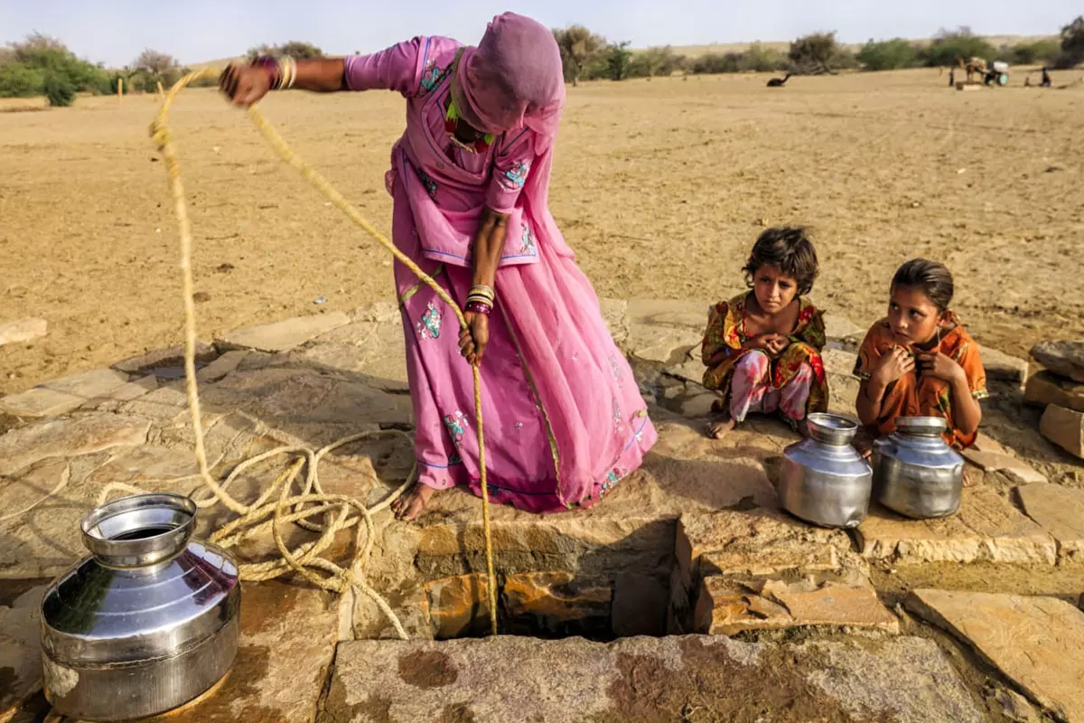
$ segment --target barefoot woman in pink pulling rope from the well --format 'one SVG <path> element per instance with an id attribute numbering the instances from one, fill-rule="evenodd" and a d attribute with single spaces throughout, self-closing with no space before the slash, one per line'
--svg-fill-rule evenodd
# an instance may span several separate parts
<path id="1" fill-rule="evenodd" d="M 640 466 L 655 428 L 550 214 L 565 83 L 549 29 L 505 13 L 477 48 L 420 37 L 345 60 L 260 59 L 228 68 L 220 85 L 242 106 L 291 87 L 406 100 L 385 179 L 392 238 L 466 308 L 468 330 L 396 263 L 418 463 L 400 517 L 416 517 L 436 490 L 479 491 L 472 362 L 494 501 L 540 513 L 589 506 Z"/>

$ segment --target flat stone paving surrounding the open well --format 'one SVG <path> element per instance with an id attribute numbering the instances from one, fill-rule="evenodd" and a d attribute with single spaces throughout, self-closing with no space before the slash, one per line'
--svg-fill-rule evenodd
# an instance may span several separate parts
<path id="1" fill-rule="evenodd" d="M 762 629 L 809 625 L 864 625 L 870 632 L 841 638 L 806 631 L 803 640 L 813 637 L 801 645 L 702 636 L 610 645 L 511 637 L 359 641 L 340 645 L 327 688 L 336 641 L 389 637 L 387 621 L 364 596 L 331 601 L 289 583 L 246 584 L 245 631 L 234 672 L 208 700 L 182 713 L 188 719 L 172 720 L 443 715 L 437 720 L 480 722 L 524 720 L 524 710 L 537 710 L 543 715 L 538 720 L 546 721 L 651 720 L 650 711 L 660 710 L 658 720 L 687 721 L 757 720 L 749 718 L 756 710 L 772 712 L 771 720 L 796 721 L 983 720 L 978 698 L 935 645 L 894 636 L 899 618 L 878 599 L 869 566 L 984 561 L 1056 570 L 1079 561 L 1084 533 L 1073 511 L 1082 493 L 1057 483 L 1067 479 L 1064 467 L 1049 460 L 1060 453 L 1051 451 L 1035 425 L 1021 426 L 999 408 L 991 411 L 984 428 L 1004 447 L 984 438 L 979 450 L 984 456 L 977 459 L 984 468 L 969 467 L 969 480 L 977 483 L 965 490 L 954 517 L 906 520 L 875 506 L 852 537 L 813 528 L 777 509 L 780 455 L 797 440 L 788 428 L 753 418 L 721 441 L 701 432 L 713 400 L 698 384 L 696 359 L 707 302 L 603 306 L 615 337 L 634 358 L 659 443 L 642 469 L 591 509 L 538 517 L 493 508 L 502 610 L 527 611 L 558 628 L 570 621 L 595 624 L 608 614 L 610 632 L 620 635 L 689 632 L 707 590 L 708 617 L 714 621 L 707 630 L 714 632 L 756 635 Z M 849 366 L 861 335 L 847 320 L 829 324 L 826 367 L 833 410 L 840 413 L 853 409 L 857 385 Z M 283 444 L 318 448 L 358 431 L 409 429 L 401 343 L 398 309 L 384 304 L 352 315 L 318 314 L 244 330 L 227 335 L 218 350 L 203 345 L 201 399 L 214 474 L 222 478 L 242 460 Z M 219 353 L 224 349 L 230 351 Z M 183 382 L 168 378 L 176 370 L 167 367 L 177 363 L 176 348 L 149 352 L 111 370 L 0 399 L 0 410 L 24 412 L 7 412 L 0 428 L 5 430 L 0 434 L 0 581 L 40 581 L 82 557 L 78 520 L 109 482 L 179 493 L 198 488 Z M 155 376 L 155 369 L 163 376 Z M 411 456 L 409 440 L 367 440 L 330 455 L 321 477 L 328 491 L 374 503 L 403 479 Z M 280 459 L 254 468 L 233 492 L 254 499 L 282 466 Z M 33 509 L 21 514 L 27 507 Z M 205 511 L 199 529 L 206 532 L 231 517 L 221 508 Z M 440 636 L 442 630 L 479 620 L 483 624 L 475 632 L 486 630 L 478 499 L 446 492 L 416 522 L 399 522 L 385 513 L 376 525 L 366 576 L 412 635 Z M 304 541 L 307 534 L 293 530 L 288 541 Z M 273 554 L 273 542 L 264 537 L 238 550 L 242 558 Z M 345 553 L 349 540 L 344 533 L 337 550 Z M 3 584 L 11 583 L 0 582 L 0 592 Z M 933 609 L 933 598 L 926 598 L 921 609 Z M 1047 610 L 1043 599 L 1014 604 L 1015 610 L 1034 618 Z M 0 608 L 4 620 L 27 617 L 25 605 L 23 612 L 13 612 L 17 607 Z M 1064 606 L 1055 607 L 1060 619 L 1072 619 Z M 674 619 L 674 610 L 686 616 L 684 622 Z M 934 622 L 967 637 L 979 654 L 997 658 L 988 649 L 991 643 L 979 635 L 971 640 L 962 633 L 966 625 L 950 622 L 951 610 L 937 615 Z M 24 623 L 12 629 L 25 632 L 30 623 Z M 1058 649 L 1057 641 L 1036 641 L 1040 648 Z M 526 654 L 532 649 L 544 650 L 538 662 Z M 33 675 L 26 671 L 35 664 L 28 656 L 36 653 L 14 634 L 0 637 L 0 661 L 11 660 L 0 664 L 0 676 L 5 668 L 16 671 L 13 690 L 25 689 Z M 401 671 L 402 656 L 418 664 Z M 441 672 L 446 659 L 454 662 L 452 672 Z M 559 672 L 566 660 L 576 671 L 567 681 Z M 493 683 L 494 661 L 503 680 L 516 685 Z M 1004 664 L 1006 679 L 1048 710 L 1062 716 L 1076 710 L 1062 688 L 1040 685 Z M 441 682 L 441 675 L 453 680 Z M 628 685 L 629 680 L 656 679 L 659 685 Z M 539 680 L 567 695 L 551 700 L 540 693 Z M 899 695 L 901 689 L 906 695 Z M 1005 700 L 1016 695 L 997 689 Z M 553 705 L 558 699 L 567 706 Z M 0 698 L 8 706 L 12 700 Z M 810 713 L 812 707 L 820 712 Z M 514 713 L 500 719 L 502 711 Z M 577 718 L 560 718 L 569 711 Z M 0 720 L 4 712 L 0 708 Z M 806 713 L 813 718 L 802 718 Z"/>

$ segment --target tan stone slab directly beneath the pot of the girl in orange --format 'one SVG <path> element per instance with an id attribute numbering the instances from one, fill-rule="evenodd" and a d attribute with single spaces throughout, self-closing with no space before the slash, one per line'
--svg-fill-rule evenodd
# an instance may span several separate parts
<path id="1" fill-rule="evenodd" d="M 983 486 L 965 488 L 959 512 L 942 519 L 906 519 L 873 505 L 855 537 L 865 557 L 904 564 L 1057 561 L 1054 538 Z"/>

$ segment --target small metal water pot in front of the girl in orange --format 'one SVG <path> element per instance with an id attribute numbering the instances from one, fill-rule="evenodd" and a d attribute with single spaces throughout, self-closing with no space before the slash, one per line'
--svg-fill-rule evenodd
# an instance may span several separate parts
<path id="1" fill-rule="evenodd" d="M 895 431 L 874 444 L 877 501 L 905 517 L 947 517 L 959 509 L 964 457 L 941 435 L 935 416 L 900 417 Z"/>

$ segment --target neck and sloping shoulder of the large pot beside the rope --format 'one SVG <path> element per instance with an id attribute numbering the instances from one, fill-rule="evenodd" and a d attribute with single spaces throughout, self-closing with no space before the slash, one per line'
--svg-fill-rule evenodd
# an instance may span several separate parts
<path id="1" fill-rule="evenodd" d="M 43 648 L 72 667 L 177 655 L 215 636 L 240 606 L 234 561 L 191 540 L 192 500 L 124 498 L 81 522 L 94 556 L 61 576 L 41 602 Z"/>

